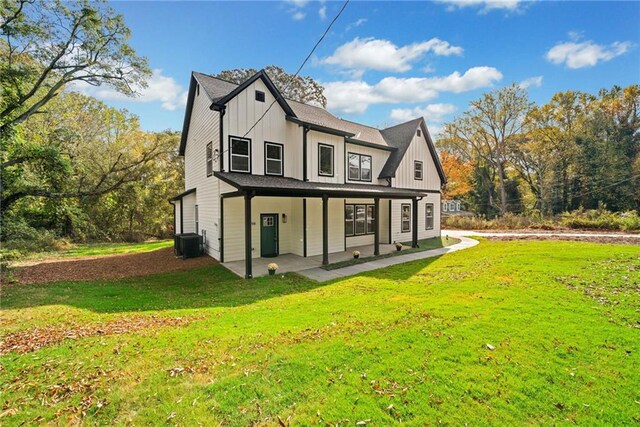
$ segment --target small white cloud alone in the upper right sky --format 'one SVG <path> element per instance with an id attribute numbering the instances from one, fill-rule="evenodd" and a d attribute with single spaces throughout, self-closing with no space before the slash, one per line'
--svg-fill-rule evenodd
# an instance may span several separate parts
<path id="1" fill-rule="evenodd" d="M 569 68 L 593 67 L 598 62 L 610 61 L 631 49 L 633 43 L 613 42 L 610 45 L 596 44 L 591 40 L 580 41 L 581 35 L 569 33 L 569 42 L 557 43 L 545 57 L 554 64 L 565 64 Z"/>

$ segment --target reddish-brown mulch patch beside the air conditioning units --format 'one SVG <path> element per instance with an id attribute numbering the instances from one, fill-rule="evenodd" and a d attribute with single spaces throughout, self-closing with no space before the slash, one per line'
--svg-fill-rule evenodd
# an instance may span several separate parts
<path id="1" fill-rule="evenodd" d="M 215 264 L 209 256 L 183 260 L 176 258 L 173 248 L 139 254 L 111 255 L 99 258 L 70 258 L 43 260 L 13 272 L 17 283 L 49 283 L 96 279 L 122 279 L 155 273 L 185 271 Z"/>

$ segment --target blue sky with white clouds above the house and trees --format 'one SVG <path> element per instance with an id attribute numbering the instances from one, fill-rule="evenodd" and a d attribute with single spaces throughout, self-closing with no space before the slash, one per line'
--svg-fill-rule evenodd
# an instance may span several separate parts
<path id="1" fill-rule="evenodd" d="M 88 89 L 140 117 L 182 127 L 192 70 L 277 64 L 293 72 L 342 2 L 113 2 L 154 75 L 134 100 Z M 423 115 L 433 131 L 483 92 L 511 83 L 558 91 L 640 82 L 639 2 L 352 1 L 303 69 L 334 114 L 372 126 Z"/>

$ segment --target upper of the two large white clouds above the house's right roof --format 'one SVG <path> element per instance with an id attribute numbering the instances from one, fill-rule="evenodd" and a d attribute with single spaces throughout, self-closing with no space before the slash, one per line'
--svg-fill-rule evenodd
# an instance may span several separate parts
<path id="1" fill-rule="evenodd" d="M 463 49 L 438 38 L 398 47 L 388 40 L 356 37 L 322 62 L 345 68 L 402 72 L 410 70 L 411 63 L 428 52 L 440 56 L 462 55 Z"/>

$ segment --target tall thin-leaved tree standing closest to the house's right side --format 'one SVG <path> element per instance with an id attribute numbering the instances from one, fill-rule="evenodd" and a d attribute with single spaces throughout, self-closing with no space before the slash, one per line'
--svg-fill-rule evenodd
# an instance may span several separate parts
<path id="1" fill-rule="evenodd" d="M 507 166 L 532 104 L 526 90 L 514 84 L 484 94 L 469 105 L 471 108 L 461 117 L 444 126 L 444 139 L 447 145 L 457 147 L 465 157 L 487 169 L 481 177 L 495 173 L 500 201 L 490 195 L 488 202 L 504 215 L 509 209 Z"/>

